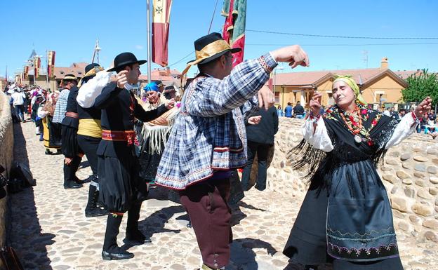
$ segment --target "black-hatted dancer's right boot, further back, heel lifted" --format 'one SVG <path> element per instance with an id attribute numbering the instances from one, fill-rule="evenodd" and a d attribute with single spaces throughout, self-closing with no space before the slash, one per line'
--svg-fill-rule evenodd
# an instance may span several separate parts
<path id="1" fill-rule="evenodd" d="M 124 243 L 126 245 L 142 245 L 144 243 L 151 243 L 151 239 L 147 238 L 138 229 L 138 219 L 140 219 L 141 203 L 135 203 L 131 209 L 128 210 L 128 222 L 126 225 L 126 237 Z"/>

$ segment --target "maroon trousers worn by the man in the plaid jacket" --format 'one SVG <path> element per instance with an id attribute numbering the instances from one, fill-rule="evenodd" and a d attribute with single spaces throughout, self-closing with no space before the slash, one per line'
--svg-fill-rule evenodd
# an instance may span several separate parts
<path id="1" fill-rule="evenodd" d="M 231 211 L 227 205 L 230 179 L 206 180 L 180 191 L 180 201 L 189 214 L 202 260 L 213 269 L 230 262 Z"/>

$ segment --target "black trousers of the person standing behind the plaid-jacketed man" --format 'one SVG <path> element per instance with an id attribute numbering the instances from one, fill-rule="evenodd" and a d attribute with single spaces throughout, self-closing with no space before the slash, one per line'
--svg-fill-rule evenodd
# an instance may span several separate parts
<path id="1" fill-rule="evenodd" d="M 258 173 L 255 187 L 258 190 L 266 189 L 266 164 L 267 151 L 269 150 L 269 148 L 270 144 L 260 144 L 258 142 L 248 141 L 248 163 L 246 163 L 241 180 L 242 188 L 245 191 L 250 189 L 249 177 L 251 175 L 251 168 L 253 167 L 253 162 L 256 154 L 258 159 Z"/>

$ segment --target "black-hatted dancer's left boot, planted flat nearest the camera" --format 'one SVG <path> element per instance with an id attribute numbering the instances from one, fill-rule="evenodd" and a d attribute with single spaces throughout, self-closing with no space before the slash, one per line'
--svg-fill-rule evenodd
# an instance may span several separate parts
<path id="1" fill-rule="evenodd" d="M 134 257 L 133 253 L 127 252 L 117 245 L 117 235 L 119 234 L 122 218 L 123 216 L 121 215 L 112 215 L 111 213 L 108 215 L 105 240 L 103 241 L 102 259 L 131 259 Z"/>

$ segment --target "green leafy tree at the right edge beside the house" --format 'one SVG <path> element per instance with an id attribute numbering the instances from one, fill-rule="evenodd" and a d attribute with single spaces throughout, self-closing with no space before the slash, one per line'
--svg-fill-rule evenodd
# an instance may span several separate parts
<path id="1" fill-rule="evenodd" d="M 406 79 L 408 87 L 401 90 L 405 102 L 420 102 L 429 96 L 432 103 L 438 102 L 438 76 L 423 69 L 420 74 L 412 74 Z"/>

